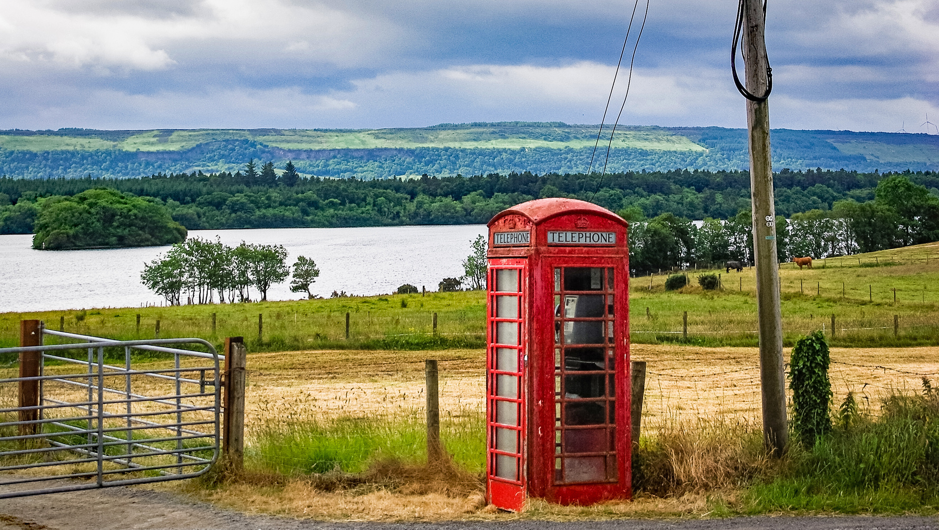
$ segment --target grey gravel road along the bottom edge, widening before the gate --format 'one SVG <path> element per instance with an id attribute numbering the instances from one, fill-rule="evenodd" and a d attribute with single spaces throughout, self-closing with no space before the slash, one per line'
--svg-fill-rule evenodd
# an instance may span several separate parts
<path id="1" fill-rule="evenodd" d="M 0 530 L 913 530 L 935 517 L 741 517 L 703 521 L 315 522 L 244 515 L 167 492 L 110 488 L 0 501 Z"/>

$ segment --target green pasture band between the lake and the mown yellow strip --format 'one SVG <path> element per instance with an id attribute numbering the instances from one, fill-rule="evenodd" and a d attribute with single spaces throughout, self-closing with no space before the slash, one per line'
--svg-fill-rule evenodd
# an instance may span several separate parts
<path id="1" fill-rule="evenodd" d="M 702 291 L 696 280 L 702 272 L 720 273 L 723 288 Z M 687 274 L 690 285 L 679 291 L 665 291 L 664 274 L 630 280 L 631 340 L 700 346 L 756 345 L 754 270 L 729 274 L 723 270 L 691 270 Z M 808 331 L 823 328 L 836 346 L 939 344 L 935 319 L 939 310 L 939 243 L 820 260 L 813 269 L 782 264 L 779 276 L 787 345 Z M 683 328 L 685 311 L 687 338 Z M 435 312 L 437 334 L 433 333 Z M 258 314 L 263 315 L 260 337 Z M 243 336 L 252 352 L 468 348 L 482 347 L 485 341 L 485 295 L 478 291 L 170 308 L 7 312 L 0 313 L 0 347 L 17 345 L 19 321 L 26 318 L 44 320 L 46 326 L 55 329 L 64 326 L 66 331 L 125 340 L 154 337 L 159 320 L 162 338 L 201 337 L 221 344 L 224 337 Z"/>

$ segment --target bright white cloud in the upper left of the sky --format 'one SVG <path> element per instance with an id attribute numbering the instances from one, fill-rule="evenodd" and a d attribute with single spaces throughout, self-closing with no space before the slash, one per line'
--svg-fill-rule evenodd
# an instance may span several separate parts
<path id="1" fill-rule="evenodd" d="M 77 1 L 5 4 L 0 57 L 100 71 L 168 68 L 176 55 L 254 62 L 291 48 L 290 43 L 290 51 L 305 59 L 349 66 L 371 62 L 402 32 L 380 20 L 281 0 L 201 0 L 189 12 L 159 16 L 146 10 L 104 11 L 94 2 L 85 10 Z M 202 48 L 206 42 L 224 45 Z M 200 57 L 199 50 L 213 56 Z"/>

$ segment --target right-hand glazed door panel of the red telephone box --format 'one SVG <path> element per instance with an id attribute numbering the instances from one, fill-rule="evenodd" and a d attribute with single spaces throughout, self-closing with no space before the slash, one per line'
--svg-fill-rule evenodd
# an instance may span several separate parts
<path id="1" fill-rule="evenodd" d="M 554 335 L 549 414 L 555 428 L 553 487 L 546 496 L 564 504 L 617 498 L 628 491 L 629 477 L 626 300 L 625 289 L 617 288 L 626 280 L 623 265 L 608 258 L 545 264 L 553 326 L 543 327 Z"/>

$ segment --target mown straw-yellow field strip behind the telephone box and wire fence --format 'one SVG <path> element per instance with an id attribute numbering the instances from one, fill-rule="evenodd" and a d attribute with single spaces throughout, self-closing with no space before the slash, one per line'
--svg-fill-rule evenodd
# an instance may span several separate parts
<path id="1" fill-rule="evenodd" d="M 631 353 L 648 362 L 646 425 L 689 416 L 759 419 L 757 348 L 633 344 Z M 789 353 L 787 348 L 787 359 Z M 939 374 L 937 354 L 939 347 L 833 348 L 829 376 L 835 400 L 853 390 L 876 412 L 891 390 L 918 390 L 920 374 Z M 324 417 L 421 408 L 426 358 L 439 359 L 443 414 L 485 409 L 482 350 L 263 353 L 249 356 L 248 423 L 272 408 L 301 406 Z M 877 366 L 884 368 L 870 368 Z"/>

